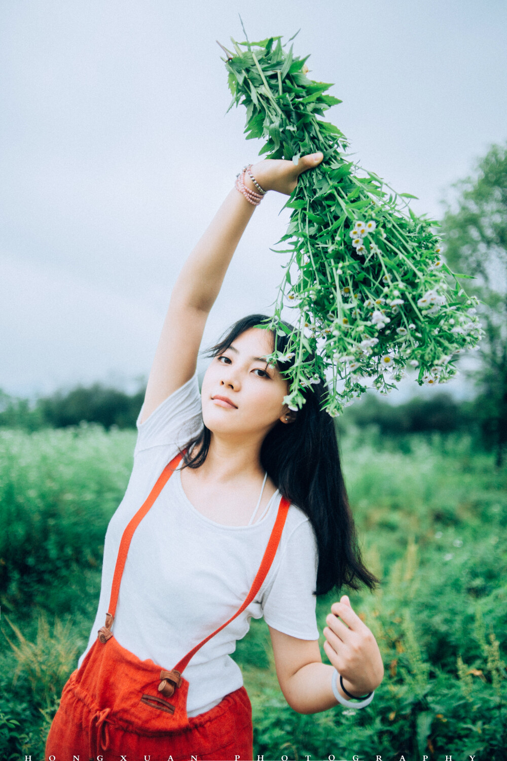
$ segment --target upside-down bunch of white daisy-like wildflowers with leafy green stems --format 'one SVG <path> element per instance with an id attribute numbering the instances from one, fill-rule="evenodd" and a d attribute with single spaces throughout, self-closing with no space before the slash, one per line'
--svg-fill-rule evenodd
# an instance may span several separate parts
<path id="1" fill-rule="evenodd" d="M 293 244 L 276 253 L 290 259 L 274 316 L 259 326 L 279 329 L 284 298 L 297 310 L 287 352 L 275 345 L 268 356 L 295 358 L 284 371 L 291 381 L 284 402 L 300 409 L 303 389 L 325 380 L 326 371 L 323 409 L 333 417 L 370 384 L 383 393 L 395 388 L 390 381 L 401 380 L 409 362 L 419 368 L 420 384 L 448 380 L 455 355 L 476 345 L 481 331 L 467 312 L 476 302 L 458 280 L 469 275 L 455 274 L 440 259 L 431 229 L 439 223 L 407 212 L 403 199 L 414 196 L 398 195 L 348 161 L 341 130 L 317 118 L 341 101 L 324 94 L 331 83 L 307 78 L 306 59 L 293 55 L 293 45 L 287 53 L 280 37 L 231 40 L 236 55 L 222 46 L 230 107 L 246 107 L 246 139 L 265 138 L 259 154 L 295 164 L 303 154 L 324 154 L 299 175 L 285 204 L 293 212 L 278 243 Z"/>

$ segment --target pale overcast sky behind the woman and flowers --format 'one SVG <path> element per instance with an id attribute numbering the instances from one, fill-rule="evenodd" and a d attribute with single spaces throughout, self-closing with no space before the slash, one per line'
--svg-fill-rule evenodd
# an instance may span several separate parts
<path id="1" fill-rule="evenodd" d="M 343 100 L 325 119 L 361 166 L 418 196 L 419 214 L 439 218 L 450 184 L 507 139 L 500 0 L 3 0 L 0 389 L 147 380 L 182 263 L 242 165 L 262 158 L 245 108 L 225 113 L 216 40 L 244 39 L 239 14 L 250 40 L 300 28 L 294 54 L 311 54 L 309 77 Z M 201 348 L 245 314 L 272 314 L 286 200 L 268 193 L 255 209 Z M 407 383 L 398 400 L 419 390 Z M 463 381 L 441 389 L 464 393 Z"/>

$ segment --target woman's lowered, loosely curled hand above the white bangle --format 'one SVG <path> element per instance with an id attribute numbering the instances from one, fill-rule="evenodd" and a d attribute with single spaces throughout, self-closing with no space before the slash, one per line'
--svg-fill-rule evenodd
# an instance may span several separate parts
<path id="1" fill-rule="evenodd" d="M 338 617 L 339 616 L 339 617 Z M 341 619 L 341 620 L 340 620 Z M 371 693 L 382 682 L 384 664 L 379 645 L 360 617 L 352 610 L 346 594 L 331 605 L 322 630 L 325 654 L 353 696 Z"/>

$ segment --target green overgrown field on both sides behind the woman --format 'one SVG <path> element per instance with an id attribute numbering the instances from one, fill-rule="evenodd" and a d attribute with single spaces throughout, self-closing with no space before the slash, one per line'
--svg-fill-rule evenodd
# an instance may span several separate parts
<path id="1" fill-rule="evenodd" d="M 0 757 L 43 759 L 62 686 L 87 645 L 103 537 L 135 431 L 0 428 Z M 265 622 L 238 642 L 255 757 L 507 759 L 507 469 L 463 435 L 341 439 L 375 594 L 351 592 L 385 678 L 367 708 L 300 715 L 277 683 Z M 343 590 L 345 592 L 346 590 Z M 325 616 L 340 591 L 317 600 Z"/>

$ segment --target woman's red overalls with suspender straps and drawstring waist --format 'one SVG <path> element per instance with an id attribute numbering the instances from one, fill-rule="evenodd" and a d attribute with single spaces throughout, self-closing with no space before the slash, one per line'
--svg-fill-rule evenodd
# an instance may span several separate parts
<path id="1" fill-rule="evenodd" d="M 252 761 L 252 705 L 245 686 L 198 716 L 187 716 L 189 682 L 182 671 L 199 648 L 249 605 L 271 567 L 290 502 L 282 497 L 276 521 L 248 597 L 228 621 L 195 645 L 171 670 L 141 661 L 111 632 L 128 546 L 182 454 L 160 473 L 144 504 L 122 535 L 112 579 L 106 625 L 62 690 L 46 740 L 46 761 Z"/>

